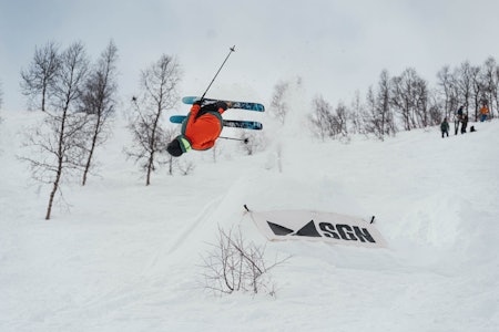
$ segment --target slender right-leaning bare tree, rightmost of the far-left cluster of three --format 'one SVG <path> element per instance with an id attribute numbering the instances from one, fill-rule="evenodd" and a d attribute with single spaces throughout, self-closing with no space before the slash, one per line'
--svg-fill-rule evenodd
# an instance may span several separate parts
<path id="1" fill-rule="evenodd" d="M 83 169 L 82 185 L 93 164 L 95 147 L 103 144 L 109 135 L 106 124 L 115 107 L 118 49 L 111 41 L 102 52 L 95 68 L 85 82 L 81 101 L 81 111 L 89 116 L 90 144 Z"/>

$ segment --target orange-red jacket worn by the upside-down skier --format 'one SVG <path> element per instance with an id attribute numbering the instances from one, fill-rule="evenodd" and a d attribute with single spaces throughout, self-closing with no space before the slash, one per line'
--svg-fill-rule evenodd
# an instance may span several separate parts
<path id="1" fill-rule="evenodd" d="M 223 102 L 203 107 L 194 104 L 191 107 L 191 113 L 182 124 L 182 135 L 189 139 L 193 149 L 208 149 L 215 145 L 222 133 L 222 113 L 225 110 L 227 105 Z"/>

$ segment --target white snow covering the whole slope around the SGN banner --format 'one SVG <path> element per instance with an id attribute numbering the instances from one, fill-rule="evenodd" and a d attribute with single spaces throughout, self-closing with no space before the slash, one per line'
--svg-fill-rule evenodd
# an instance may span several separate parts
<path id="1" fill-rule="evenodd" d="M 267 151 L 244 156 L 221 141 L 216 162 L 212 152 L 190 153 L 191 175 L 161 168 L 146 187 L 123 155 L 130 138 L 118 117 L 98 175 L 85 187 L 64 184 L 47 221 L 50 188 L 17 158 L 42 115 L 0 116 L 0 331 L 499 326 L 497 121 L 445 139 L 431 127 L 342 144 L 263 120 L 262 134 L 278 138 Z M 266 242 L 244 204 L 375 215 L 389 248 Z M 201 257 L 218 227 L 241 228 L 271 257 L 292 256 L 272 272 L 275 298 L 204 290 Z"/>

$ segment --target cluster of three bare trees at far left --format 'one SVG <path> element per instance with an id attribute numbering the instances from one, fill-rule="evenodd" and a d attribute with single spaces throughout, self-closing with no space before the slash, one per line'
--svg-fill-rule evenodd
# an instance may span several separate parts
<path id="1" fill-rule="evenodd" d="M 24 95 L 38 101 L 45 112 L 43 123 L 27 133 L 29 163 L 34 179 L 51 185 L 45 219 L 50 219 L 55 194 L 73 174 L 86 177 L 94 164 L 95 148 L 110 134 L 108 122 L 114 112 L 118 49 L 110 42 L 91 63 L 81 42 L 64 50 L 49 42 L 35 50 L 21 71 Z"/>

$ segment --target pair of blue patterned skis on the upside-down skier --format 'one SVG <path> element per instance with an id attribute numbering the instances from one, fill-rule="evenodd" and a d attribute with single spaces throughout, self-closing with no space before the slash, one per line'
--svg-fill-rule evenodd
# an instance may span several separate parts
<path id="1" fill-rule="evenodd" d="M 198 100 L 200 100 L 200 97 L 197 97 L 197 96 L 186 96 L 186 97 L 182 98 L 182 103 L 192 105 Z M 210 104 L 210 103 L 217 102 L 217 100 L 203 98 L 203 102 L 205 104 Z M 265 112 L 265 106 L 259 103 L 247 103 L 247 102 L 236 102 L 236 101 L 225 101 L 225 102 L 232 104 L 231 108 Z M 170 122 L 182 123 L 185 120 L 185 117 L 186 117 L 186 115 L 173 115 L 170 117 Z M 263 124 L 257 121 L 224 120 L 224 127 L 261 131 L 263 128 Z"/>

